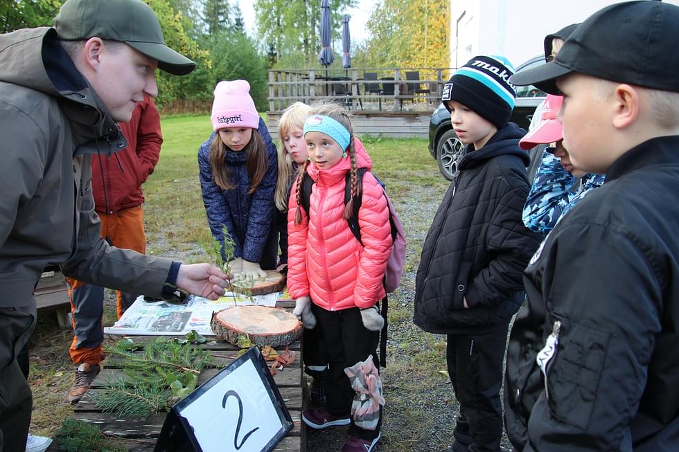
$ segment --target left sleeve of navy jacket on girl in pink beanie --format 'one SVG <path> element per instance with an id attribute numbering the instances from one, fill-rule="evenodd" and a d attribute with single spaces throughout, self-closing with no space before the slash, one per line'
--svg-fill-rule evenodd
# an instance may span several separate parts
<path id="1" fill-rule="evenodd" d="M 210 231 L 213 237 L 222 244 L 222 257 L 225 257 L 222 225 L 227 226 L 231 237 L 234 234 L 229 205 L 222 195 L 222 189 L 215 183 L 210 167 L 210 143 L 212 143 L 214 136 L 215 134 L 211 134 L 210 138 L 198 149 L 198 179 L 200 179 L 200 189 L 202 190 L 203 204 L 205 205 Z M 240 244 L 236 243 L 236 250 L 233 253 L 236 257 L 242 254 L 239 248 Z"/>

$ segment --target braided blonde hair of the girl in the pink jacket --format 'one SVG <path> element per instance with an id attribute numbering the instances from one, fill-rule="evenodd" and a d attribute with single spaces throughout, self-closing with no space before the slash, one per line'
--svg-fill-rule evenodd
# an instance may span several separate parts
<path id="1" fill-rule="evenodd" d="M 311 114 L 329 116 L 338 123 L 342 124 L 349 131 L 349 146 L 346 147 L 346 152 L 349 154 L 349 158 L 351 159 L 351 197 L 349 197 L 349 202 L 346 203 L 346 206 L 344 206 L 344 213 L 342 214 L 345 219 L 349 219 L 353 213 L 353 199 L 355 197 L 360 197 L 362 194 L 362 184 L 361 181 L 358 180 L 358 163 L 356 162 L 356 151 L 353 147 L 354 136 L 353 127 L 351 126 L 351 116 L 349 115 L 349 111 L 346 111 L 342 105 L 336 104 L 334 102 L 314 105 L 314 107 L 312 107 Z M 307 160 L 304 162 L 304 165 L 299 168 L 299 172 L 297 173 L 297 211 L 294 213 L 294 224 L 300 224 L 302 222 L 302 214 L 301 210 L 299 210 L 299 206 L 301 206 L 302 181 L 304 179 L 303 176 L 306 172 L 306 167 L 308 164 L 309 161 Z"/>

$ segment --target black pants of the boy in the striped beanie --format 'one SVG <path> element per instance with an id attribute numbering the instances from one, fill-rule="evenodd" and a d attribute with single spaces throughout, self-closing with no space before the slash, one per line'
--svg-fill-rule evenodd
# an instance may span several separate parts
<path id="1" fill-rule="evenodd" d="M 470 450 L 500 451 L 500 388 L 508 327 L 486 334 L 448 334 L 448 374 L 473 439 Z"/>

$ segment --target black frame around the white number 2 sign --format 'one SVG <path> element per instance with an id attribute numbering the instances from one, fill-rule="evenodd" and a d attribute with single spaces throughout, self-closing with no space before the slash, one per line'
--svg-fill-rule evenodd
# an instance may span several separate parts
<path id="1" fill-rule="evenodd" d="M 272 402 L 272 406 L 276 412 L 276 415 L 281 421 L 281 428 L 276 431 L 276 433 L 270 438 L 269 442 L 267 442 L 266 446 L 261 449 L 261 451 L 269 452 L 274 449 L 276 444 L 278 444 L 292 429 L 292 417 L 290 417 L 288 408 L 285 406 L 279 388 L 276 386 L 276 383 L 274 383 L 274 379 L 271 376 L 271 372 L 266 361 L 264 360 L 264 357 L 262 356 L 258 347 L 253 346 L 242 356 L 236 359 L 236 361 L 233 361 L 233 363 L 229 364 L 226 368 L 224 368 L 224 370 L 203 383 L 201 386 L 196 388 L 196 390 L 191 392 L 191 394 L 184 397 L 184 399 L 172 407 L 166 416 L 160 436 L 156 442 L 155 449 L 153 449 L 154 452 L 203 452 L 203 449 L 200 446 L 200 440 L 195 436 L 195 431 L 190 422 L 188 422 L 188 419 L 182 416 L 182 411 L 191 404 L 195 403 L 197 399 L 200 399 L 200 397 L 206 395 L 206 393 L 209 392 L 209 390 L 211 390 L 215 384 L 222 381 L 224 377 L 227 377 L 229 374 L 231 374 L 231 372 L 240 368 L 240 366 L 247 363 L 247 361 L 252 361 L 254 364 L 257 375 L 261 379 L 261 383 L 263 384 L 266 393 Z M 227 395 L 224 395 L 224 399 L 226 399 Z M 237 394 L 236 397 L 238 397 Z M 238 403 L 242 408 L 240 397 L 238 397 Z M 238 421 L 238 425 L 240 426 L 240 419 Z M 247 435 L 249 435 L 249 433 L 247 433 Z M 247 435 L 240 438 L 242 442 L 240 443 L 240 447 L 238 447 L 237 433 L 233 440 L 235 449 L 242 450 L 244 452 L 251 450 L 242 449 L 243 446 L 245 446 Z"/>

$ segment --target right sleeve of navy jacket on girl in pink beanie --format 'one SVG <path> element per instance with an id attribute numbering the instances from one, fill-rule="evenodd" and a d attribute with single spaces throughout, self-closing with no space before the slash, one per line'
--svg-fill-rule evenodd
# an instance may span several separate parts
<path id="1" fill-rule="evenodd" d="M 276 205 L 274 204 L 274 192 L 278 179 L 278 156 L 276 145 L 262 118 L 259 119 L 257 131 L 264 141 L 267 154 L 267 171 L 262 181 L 252 193 L 250 210 L 247 220 L 247 234 L 243 244 L 243 259 L 250 262 L 260 262 L 264 246 L 274 226 Z"/>

